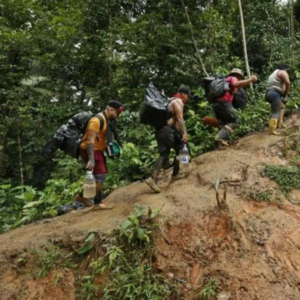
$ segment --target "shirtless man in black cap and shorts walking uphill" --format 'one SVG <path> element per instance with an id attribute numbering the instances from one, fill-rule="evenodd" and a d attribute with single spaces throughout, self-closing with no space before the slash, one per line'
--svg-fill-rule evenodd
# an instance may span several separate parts
<path id="1" fill-rule="evenodd" d="M 188 87 L 180 87 L 169 102 L 169 109 L 172 116 L 167 120 L 166 125 L 155 130 L 159 157 L 154 162 L 151 177 L 147 178 L 145 182 L 157 192 L 160 192 L 160 188 L 157 185 L 158 174 L 160 169 L 167 165 L 171 148 L 175 150 L 176 156 L 178 156 L 182 142 L 187 142 L 187 133 L 183 120 L 183 106 L 190 96 Z M 179 172 L 179 161 L 176 158 L 173 166 L 172 179 L 180 179 L 185 175 L 185 173 Z"/>

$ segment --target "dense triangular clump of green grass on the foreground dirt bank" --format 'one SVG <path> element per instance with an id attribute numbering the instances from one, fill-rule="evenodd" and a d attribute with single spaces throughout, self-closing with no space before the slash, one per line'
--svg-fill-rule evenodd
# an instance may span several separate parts
<path id="1" fill-rule="evenodd" d="M 103 242 L 94 238 L 89 250 L 102 253 L 91 259 L 88 271 L 79 280 L 79 299 L 166 299 L 170 290 L 166 279 L 153 268 L 153 235 L 159 209 L 146 212 L 140 205 Z M 99 251 L 96 251 L 99 253 Z"/>

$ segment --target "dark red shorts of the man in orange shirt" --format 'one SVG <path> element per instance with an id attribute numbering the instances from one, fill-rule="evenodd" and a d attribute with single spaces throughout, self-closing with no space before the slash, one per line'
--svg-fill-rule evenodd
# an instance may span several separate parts
<path id="1" fill-rule="evenodd" d="M 87 163 L 88 156 L 86 150 L 79 148 L 79 154 L 83 159 L 84 163 Z M 95 166 L 93 168 L 92 173 L 94 174 L 96 181 L 104 182 L 104 179 L 108 173 L 106 158 L 104 156 L 104 153 L 99 150 L 94 150 L 94 158 L 95 158 Z"/>

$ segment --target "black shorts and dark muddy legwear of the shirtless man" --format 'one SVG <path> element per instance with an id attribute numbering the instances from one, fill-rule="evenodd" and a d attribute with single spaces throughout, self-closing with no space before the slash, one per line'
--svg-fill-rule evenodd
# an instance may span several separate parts
<path id="1" fill-rule="evenodd" d="M 174 149 L 176 156 L 181 147 L 182 134 L 178 132 L 173 126 L 165 125 L 155 130 L 155 139 L 157 141 L 159 157 L 154 162 L 152 170 L 152 178 L 157 180 L 159 170 L 161 168 L 168 168 L 168 156 L 170 150 Z M 179 172 L 179 161 L 175 158 L 173 163 L 173 175 Z"/>

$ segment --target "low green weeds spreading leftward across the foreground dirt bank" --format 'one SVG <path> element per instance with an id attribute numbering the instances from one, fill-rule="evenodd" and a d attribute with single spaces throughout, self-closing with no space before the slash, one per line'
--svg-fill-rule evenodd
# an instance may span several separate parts
<path id="1" fill-rule="evenodd" d="M 159 212 L 137 205 L 116 228 L 104 235 L 89 232 L 84 244 L 70 253 L 56 245 L 31 251 L 31 274 L 42 277 L 55 270 L 53 284 L 59 284 L 61 270 L 72 269 L 78 299 L 165 299 L 173 287 L 153 267 Z M 27 262 L 26 257 L 18 259 L 24 267 Z"/>

